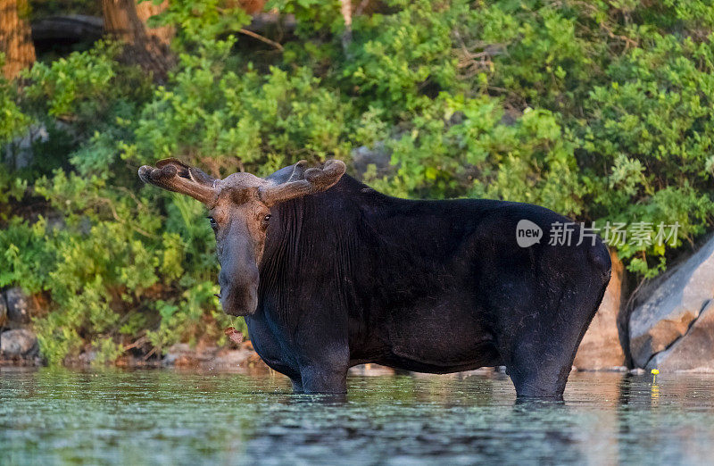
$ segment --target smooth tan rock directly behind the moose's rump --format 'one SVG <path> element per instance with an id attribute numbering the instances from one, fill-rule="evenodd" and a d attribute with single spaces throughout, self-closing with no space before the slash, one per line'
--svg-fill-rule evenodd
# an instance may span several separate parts
<path id="1" fill-rule="evenodd" d="M 612 276 L 602 303 L 580 342 L 573 365 L 578 370 L 610 370 L 622 366 L 625 352 L 619 342 L 618 315 L 624 301 L 625 267 L 617 254 L 610 254 Z"/>

